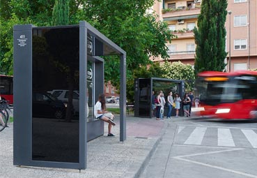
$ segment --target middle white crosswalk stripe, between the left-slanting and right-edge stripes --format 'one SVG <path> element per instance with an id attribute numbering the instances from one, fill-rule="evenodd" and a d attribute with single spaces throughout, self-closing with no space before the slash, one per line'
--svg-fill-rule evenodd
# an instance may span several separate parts
<path id="1" fill-rule="evenodd" d="M 235 143 L 229 128 L 218 128 L 218 146 L 235 147 Z"/>

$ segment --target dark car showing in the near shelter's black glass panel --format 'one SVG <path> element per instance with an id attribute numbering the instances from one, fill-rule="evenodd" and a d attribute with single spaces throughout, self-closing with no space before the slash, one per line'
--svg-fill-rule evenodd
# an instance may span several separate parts
<path id="1" fill-rule="evenodd" d="M 63 119 L 66 107 L 63 101 L 47 92 L 33 92 L 32 96 L 32 115 L 33 117 L 47 117 Z"/>

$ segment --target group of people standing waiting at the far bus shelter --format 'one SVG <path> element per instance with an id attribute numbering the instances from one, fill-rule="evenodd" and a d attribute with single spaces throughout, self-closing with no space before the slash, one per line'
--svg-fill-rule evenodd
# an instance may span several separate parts
<path id="1" fill-rule="evenodd" d="M 191 116 L 191 107 L 194 101 L 194 95 L 192 91 L 189 94 L 185 94 L 184 97 L 181 99 L 178 93 L 175 94 L 173 97 L 172 91 L 169 92 L 167 98 L 164 98 L 164 92 L 159 91 L 157 96 L 155 96 L 155 91 L 152 94 L 152 110 L 153 110 L 153 117 L 156 117 L 156 120 L 164 119 L 164 107 L 165 105 L 168 107 L 168 112 L 166 115 L 166 119 L 171 119 L 171 112 L 172 108 L 176 109 L 176 117 L 178 117 L 179 110 L 180 110 L 180 103 L 182 102 L 182 108 L 185 112 L 187 117 Z"/>

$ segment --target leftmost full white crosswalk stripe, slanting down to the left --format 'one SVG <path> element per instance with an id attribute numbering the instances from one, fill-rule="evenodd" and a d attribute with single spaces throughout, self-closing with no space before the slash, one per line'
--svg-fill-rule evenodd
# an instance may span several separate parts
<path id="1" fill-rule="evenodd" d="M 184 144 L 201 144 L 207 127 L 196 127 Z"/>

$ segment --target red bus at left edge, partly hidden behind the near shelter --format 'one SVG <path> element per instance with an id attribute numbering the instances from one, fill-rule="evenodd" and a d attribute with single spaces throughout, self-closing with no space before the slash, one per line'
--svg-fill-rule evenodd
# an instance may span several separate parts
<path id="1" fill-rule="evenodd" d="M 0 75 L 0 96 L 13 105 L 13 76 Z"/>

